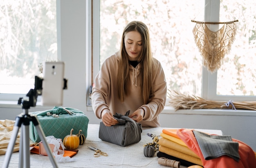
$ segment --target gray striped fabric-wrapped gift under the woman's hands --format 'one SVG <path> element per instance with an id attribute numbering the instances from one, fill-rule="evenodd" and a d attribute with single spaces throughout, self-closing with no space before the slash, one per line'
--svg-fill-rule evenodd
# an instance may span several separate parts
<path id="1" fill-rule="evenodd" d="M 130 110 L 125 115 L 116 113 L 115 119 L 119 122 L 116 125 L 107 127 L 100 122 L 99 138 L 103 141 L 127 146 L 137 143 L 141 140 L 142 126 L 141 123 L 135 122 L 129 116 Z"/>

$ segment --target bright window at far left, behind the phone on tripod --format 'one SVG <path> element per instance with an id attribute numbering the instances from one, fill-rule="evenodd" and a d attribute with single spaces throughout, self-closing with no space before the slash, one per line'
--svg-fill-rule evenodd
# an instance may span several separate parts
<path id="1" fill-rule="evenodd" d="M 34 89 L 43 61 L 57 59 L 56 0 L 4 0 L 0 4 L 0 99 Z"/>

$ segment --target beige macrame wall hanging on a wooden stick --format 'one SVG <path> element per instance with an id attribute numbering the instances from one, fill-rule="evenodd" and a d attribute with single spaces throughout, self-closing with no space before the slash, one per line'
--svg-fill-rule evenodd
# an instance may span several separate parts
<path id="1" fill-rule="evenodd" d="M 223 63 L 223 58 L 229 53 L 236 36 L 236 24 L 238 20 L 231 22 L 195 22 L 193 35 L 195 44 L 202 57 L 203 65 L 210 72 L 215 72 Z M 223 24 L 218 31 L 211 31 L 207 24 Z"/>

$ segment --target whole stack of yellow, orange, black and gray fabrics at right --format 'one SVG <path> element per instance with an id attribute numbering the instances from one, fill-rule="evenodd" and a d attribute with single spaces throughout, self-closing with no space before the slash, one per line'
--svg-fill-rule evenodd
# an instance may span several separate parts
<path id="1" fill-rule="evenodd" d="M 163 129 L 160 136 L 157 157 L 180 161 L 182 166 L 252 168 L 256 165 L 252 148 L 230 136 L 192 129 Z"/>

